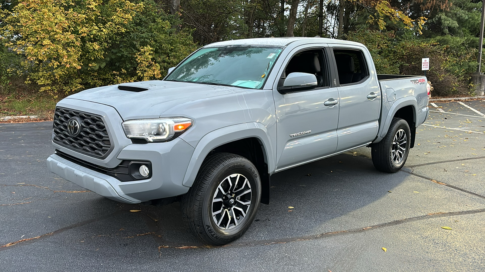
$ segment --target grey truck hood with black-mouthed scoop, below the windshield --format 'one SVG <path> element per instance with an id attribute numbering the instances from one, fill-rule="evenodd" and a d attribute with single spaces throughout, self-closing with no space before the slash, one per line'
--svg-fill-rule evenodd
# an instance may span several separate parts
<path id="1" fill-rule="evenodd" d="M 124 91 L 119 90 L 118 86 L 128 86 L 125 89 L 134 87 L 136 90 L 138 87 L 148 90 Z M 112 106 L 123 120 L 130 120 L 158 118 L 174 106 L 241 91 L 247 90 L 237 87 L 151 80 L 98 87 L 81 91 L 67 98 Z"/>

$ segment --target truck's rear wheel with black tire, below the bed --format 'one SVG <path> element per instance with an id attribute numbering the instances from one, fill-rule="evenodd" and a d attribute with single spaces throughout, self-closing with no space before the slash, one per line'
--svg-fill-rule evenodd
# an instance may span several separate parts
<path id="1" fill-rule="evenodd" d="M 401 130 L 404 131 L 404 134 Z M 397 145 L 396 142 L 394 142 L 398 132 L 400 133 L 399 136 L 405 136 L 405 143 L 398 141 L 398 143 L 402 143 L 401 145 Z M 399 136 L 398 139 L 400 139 Z M 409 154 L 410 144 L 411 131 L 408 123 L 401 118 L 392 119 L 388 134 L 386 134 L 384 139 L 380 142 L 372 145 L 372 163 L 374 164 L 374 167 L 379 171 L 388 173 L 395 173 L 401 170 L 406 162 L 407 155 Z M 399 146 L 401 146 L 401 148 L 399 148 Z M 404 148 L 404 146 L 405 150 L 403 151 L 402 148 Z M 396 152 L 396 150 L 400 151 L 402 154 Z M 399 160 L 400 156 L 402 157 Z"/>

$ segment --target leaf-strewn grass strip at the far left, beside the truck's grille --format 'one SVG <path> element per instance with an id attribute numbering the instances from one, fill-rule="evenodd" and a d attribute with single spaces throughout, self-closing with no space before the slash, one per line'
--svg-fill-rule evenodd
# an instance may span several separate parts
<path id="1" fill-rule="evenodd" d="M 51 119 L 54 108 L 61 99 L 48 93 L 1 93 L 0 116 L 39 115 L 41 118 Z"/>

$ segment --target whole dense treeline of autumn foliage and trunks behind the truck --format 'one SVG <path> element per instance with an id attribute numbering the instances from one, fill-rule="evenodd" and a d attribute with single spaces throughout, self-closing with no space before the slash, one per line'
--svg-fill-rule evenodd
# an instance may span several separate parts
<path id="1" fill-rule="evenodd" d="M 162 78 L 198 46 L 320 35 L 361 42 L 382 74 L 466 93 L 479 0 L 0 0 L 0 92 L 69 93 Z"/>

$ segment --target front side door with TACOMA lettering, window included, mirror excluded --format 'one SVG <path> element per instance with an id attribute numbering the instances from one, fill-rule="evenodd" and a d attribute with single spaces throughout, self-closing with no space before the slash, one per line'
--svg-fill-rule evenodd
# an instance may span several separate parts
<path id="1" fill-rule="evenodd" d="M 273 97 L 276 107 L 276 171 L 297 166 L 337 149 L 339 92 L 330 69 L 329 52 L 324 45 L 294 48 L 278 71 Z M 317 77 L 318 87 L 284 91 L 290 73 L 309 73 Z"/>

